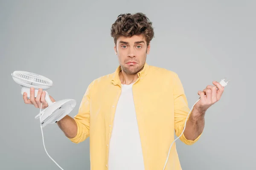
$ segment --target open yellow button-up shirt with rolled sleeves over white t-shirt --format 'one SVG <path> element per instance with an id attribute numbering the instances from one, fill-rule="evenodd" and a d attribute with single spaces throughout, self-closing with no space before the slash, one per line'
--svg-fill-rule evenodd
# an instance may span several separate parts
<path id="1" fill-rule="evenodd" d="M 78 132 L 70 140 L 79 143 L 90 136 L 91 170 L 108 170 L 108 146 L 121 94 L 120 70 L 119 66 L 90 83 L 74 117 Z M 190 111 L 183 85 L 175 72 L 145 63 L 132 91 L 145 170 L 163 170 L 175 133 L 180 136 Z M 182 135 L 180 140 L 191 145 L 200 136 L 191 141 Z M 175 143 L 165 170 L 181 170 Z"/>

